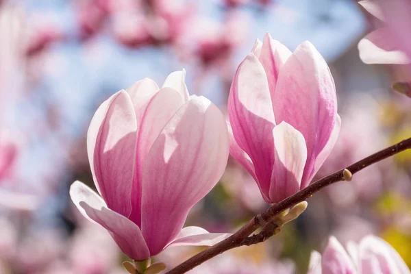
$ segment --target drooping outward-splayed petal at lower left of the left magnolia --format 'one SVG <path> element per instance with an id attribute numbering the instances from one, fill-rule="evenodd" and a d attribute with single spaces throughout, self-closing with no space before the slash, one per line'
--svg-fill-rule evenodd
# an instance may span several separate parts
<path id="1" fill-rule="evenodd" d="M 150 257 L 140 228 L 125 216 L 106 208 L 104 201 L 88 186 L 74 182 L 70 188 L 70 197 L 87 219 L 99 223 L 110 232 L 121 251 L 129 258 L 144 260 Z"/>

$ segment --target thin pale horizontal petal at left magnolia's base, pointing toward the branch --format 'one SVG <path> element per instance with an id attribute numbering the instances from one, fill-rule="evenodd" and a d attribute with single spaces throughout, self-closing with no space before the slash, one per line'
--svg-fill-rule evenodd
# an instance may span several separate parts
<path id="1" fill-rule="evenodd" d="M 182 238 L 178 238 L 173 240 L 166 248 L 169 247 L 179 247 L 179 246 L 187 246 L 187 245 L 195 245 L 195 246 L 212 246 L 215 245 L 217 242 L 221 242 L 225 240 L 229 236 L 232 236 L 231 233 L 206 233 L 206 234 L 197 234 L 186 236 Z"/>

